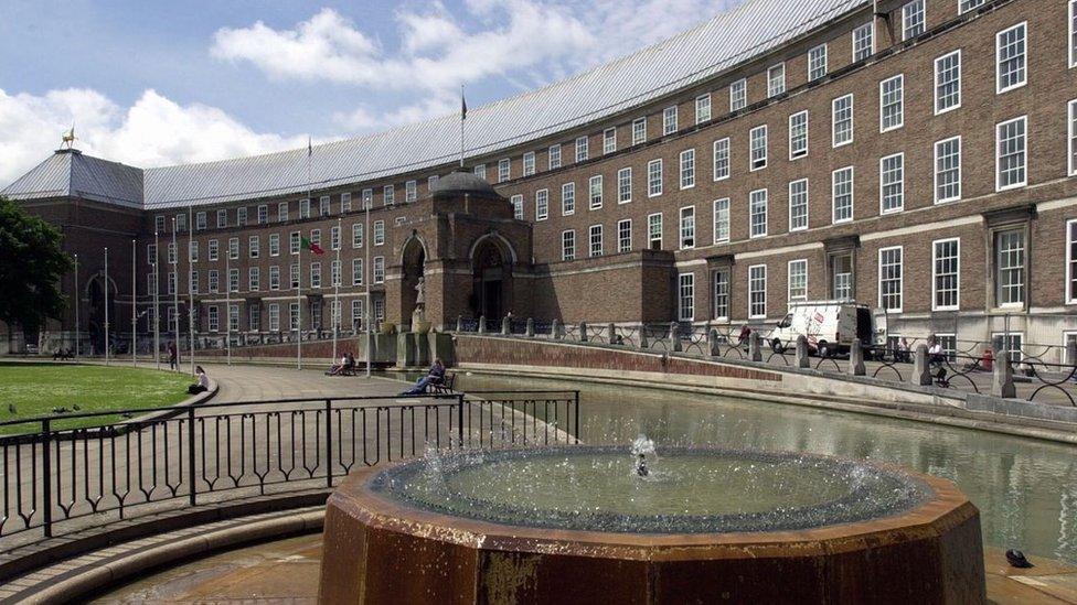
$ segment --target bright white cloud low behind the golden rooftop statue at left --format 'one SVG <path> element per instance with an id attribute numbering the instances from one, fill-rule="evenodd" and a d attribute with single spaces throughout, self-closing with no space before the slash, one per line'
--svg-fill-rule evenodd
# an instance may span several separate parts
<path id="1" fill-rule="evenodd" d="M 255 132 L 221 109 L 180 105 L 146 90 L 129 108 L 85 88 L 43 96 L 0 89 L 0 186 L 14 181 L 60 147 L 72 123 L 86 153 L 139 168 L 221 160 L 294 149 L 302 136 Z"/>

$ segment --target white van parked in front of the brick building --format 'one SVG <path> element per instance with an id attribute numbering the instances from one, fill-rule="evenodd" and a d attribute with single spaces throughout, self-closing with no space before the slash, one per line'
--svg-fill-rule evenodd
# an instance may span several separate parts
<path id="1" fill-rule="evenodd" d="M 801 334 L 808 338 L 808 350 L 822 357 L 849 350 L 854 339 L 865 347 L 874 344 L 872 311 L 852 301 L 815 301 L 789 304 L 789 313 L 770 332 L 767 339 L 775 352 L 797 346 Z"/>

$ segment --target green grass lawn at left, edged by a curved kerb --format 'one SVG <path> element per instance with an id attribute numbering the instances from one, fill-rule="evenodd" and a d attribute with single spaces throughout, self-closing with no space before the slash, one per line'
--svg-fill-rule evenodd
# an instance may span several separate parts
<path id="1" fill-rule="evenodd" d="M 131 367 L 66 364 L 0 363 L 0 422 L 49 415 L 55 408 L 67 413 L 158 408 L 183 401 L 192 382 L 184 374 Z M 74 408 L 78 406 L 76 411 Z M 93 426 L 125 420 L 119 414 L 72 419 L 58 429 Z M 0 426 L 0 433 L 25 433 L 40 424 Z"/>

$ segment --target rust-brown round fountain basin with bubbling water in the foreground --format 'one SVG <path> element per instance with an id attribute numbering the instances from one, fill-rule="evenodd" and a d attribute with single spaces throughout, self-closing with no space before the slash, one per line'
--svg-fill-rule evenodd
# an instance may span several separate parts
<path id="1" fill-rule="evenodd" d="M 350 475 L 320 596 L 363 603 L 981 602 L 949 482 L 824 456 L 454 452 Z"/>

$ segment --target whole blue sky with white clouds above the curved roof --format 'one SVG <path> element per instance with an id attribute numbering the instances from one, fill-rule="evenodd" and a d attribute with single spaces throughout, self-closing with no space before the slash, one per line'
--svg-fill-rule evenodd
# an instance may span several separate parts
<path id="1" fill-rule="evenodd" d="M 0 186 L 72 121 L 138 166 L 329 141 L 518 94 L 739 0 L 0 0 Z"/>

